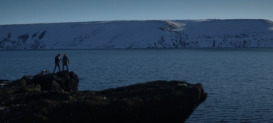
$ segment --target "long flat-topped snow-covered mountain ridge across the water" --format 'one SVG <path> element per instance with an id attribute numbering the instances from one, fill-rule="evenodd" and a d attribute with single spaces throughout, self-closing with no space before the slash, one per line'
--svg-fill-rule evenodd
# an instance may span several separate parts
<path id="1" fill-rule="evenodd" d="M 208 19 L 0 25 L 0 50 L 208 47 L 273 47 L 273 22 Z"/>

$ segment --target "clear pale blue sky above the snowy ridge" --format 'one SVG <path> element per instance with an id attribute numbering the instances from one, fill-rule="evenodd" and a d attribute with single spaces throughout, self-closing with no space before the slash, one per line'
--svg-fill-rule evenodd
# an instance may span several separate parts
<path id="1" fill-rule="evenodd" d="M 273 1 L 0 1 L 0 25 L 158 19 L 268 19 L 273 21 Z"/>

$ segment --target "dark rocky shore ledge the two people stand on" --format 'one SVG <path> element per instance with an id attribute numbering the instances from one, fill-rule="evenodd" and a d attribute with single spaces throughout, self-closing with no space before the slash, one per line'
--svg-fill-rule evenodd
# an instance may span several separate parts
<path id="1" fill-rule="evenodd" d="M 181 123 L 207 98 L 201 84 L 184 81 L 77 91 L 78 80 L 62 71 L 11 81 L 0 87 L 0 122 Z"/>

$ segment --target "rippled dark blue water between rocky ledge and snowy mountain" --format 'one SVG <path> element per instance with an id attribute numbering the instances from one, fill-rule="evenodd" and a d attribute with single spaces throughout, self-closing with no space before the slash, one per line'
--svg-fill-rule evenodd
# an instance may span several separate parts
<path id="1" fill-rule="evenodd" d="M 273 122 L 272 48 L 0 50 L 0 79 L 34 76 L 45 67 L 53 72 L 54 57 L 65 53 L 79 90 L 155 80 L 202 83 L 207 100 L 186 122 Z"/>

